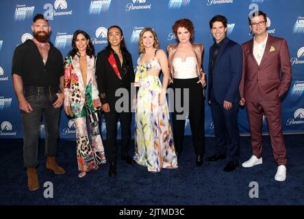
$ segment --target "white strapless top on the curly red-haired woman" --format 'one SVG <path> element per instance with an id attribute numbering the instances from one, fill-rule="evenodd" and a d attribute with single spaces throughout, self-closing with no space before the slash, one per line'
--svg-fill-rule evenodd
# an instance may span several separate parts
<path id="1" fill-rule="evenodd" d="M 174 78 L 190 79 L 197 76 L 197 58 L 193 56 L 186 57 L 182 62 L 181 57 L 175 57 L 172 61 L 174 68 Z"/>

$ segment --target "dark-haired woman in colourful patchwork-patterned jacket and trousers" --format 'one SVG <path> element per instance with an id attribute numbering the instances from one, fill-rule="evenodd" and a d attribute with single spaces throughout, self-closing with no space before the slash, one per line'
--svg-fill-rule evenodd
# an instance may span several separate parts
<path id="1" fill-rule="evenodd" d="M 82 30 L 73 34 L 73 49 L 64 65 L 64 111 L 75 122 L 78 177 L 105 164 L 98 112 L 101 101 L 95 79 L 94 47 Z M 89 133 L 86 118 L 88 118 Z"/>

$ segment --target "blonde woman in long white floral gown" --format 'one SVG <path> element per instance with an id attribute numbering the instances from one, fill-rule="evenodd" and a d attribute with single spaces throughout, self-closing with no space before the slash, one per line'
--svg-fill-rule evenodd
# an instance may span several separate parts
<path id="1" fill-rule="evenodd" d="M 136 128 L 134 159 L 150 172 L 162 168 L 177 168 L 177 156 L 169 120 L 166 88 L 169 72 L 166 53 L 158 49 L 159 42 L 153 29 L 140 33 L 138 48 L 140 61 L 135 76 L 138 86 L 136 99 Z M 163 85 L 160 82 L 163 73 Z"/>

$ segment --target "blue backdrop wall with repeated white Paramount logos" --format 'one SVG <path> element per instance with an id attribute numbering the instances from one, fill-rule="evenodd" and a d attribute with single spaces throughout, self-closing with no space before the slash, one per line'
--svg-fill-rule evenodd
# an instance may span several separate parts
<path id="1" fill-rule="evenodd" d="M 107 44 L 107 27 L 122 27 L 127 48 L 138 60 L 137 41 L 143 27 L 152 27 L 158 34 L 160 47 L 175 43 L 172 25 L 179 18 L 194 23 L 194 42 L 205 44 L 204 68 L 207 69 L 208 50 L 213 43 L 209 21 L 216 14 L 228 18 L 229 38 L 243 43 L 251 39 L 248 15 L 255 9 L 266 12 L 268 33 L 286 38 L 290 48 L 292 83 L 283 99 L 283 132 L 304 132 L 304 3 L 303 0 L 1 0 L 0 3 L 0 139 L 21 139 L 21 112 L 12 86 L 12 55 L 18 44 L 32 38 L 31 23 L 35 14 L 49 17 L 51 42 L 65 56 L 71 49 L 73 32 L 84 29 L 90 34 L 95 51 Z M 205 103 L 205 135 L 212 136 L 210 107 Z M 249 133 L 246 110 L 239 112 L 242 134 Z M 186 134 L 191 134 L 186 123 Z M 41 123 L 41 137 L 44 124 Z M 105 123 L 101 124 L 105 136 Z M 267 132 L 264 118 L 263 131 Z M 73 120 L 62 110 L 61 138 L 75 138 Z"/>

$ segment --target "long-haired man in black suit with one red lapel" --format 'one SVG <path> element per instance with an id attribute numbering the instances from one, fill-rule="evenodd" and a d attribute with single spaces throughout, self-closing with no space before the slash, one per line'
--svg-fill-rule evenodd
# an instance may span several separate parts
<path id="1" fill-rule="evenodd" d="M 98 53 L 96 62 L 96 77 L 107 129 L 107 144 L 105 156 L 110 162 L 109 175 L 116 175 L 117 161 L 117 123 L 121 122 L 121 159 L 127 164 L 134 160 L 129 156 L 131 141 L 131 83 L 134 82 L 134 67 L 131 54 L 125 47 L 123 31 L 118 26 L 107 29 L 107 47 Z M 127 91 L 127 101 L 123 105 L 116 104 L 121 96 L 115 96 L 116 90 Z M 122 89 L 122 90 L 123 90 Z M 125 98 L 125 96 L 124 96 Z M 118 103 L 118 102 L 117 102 Z"/>

